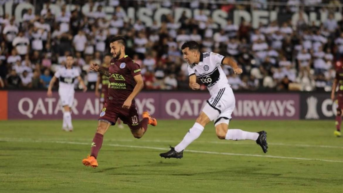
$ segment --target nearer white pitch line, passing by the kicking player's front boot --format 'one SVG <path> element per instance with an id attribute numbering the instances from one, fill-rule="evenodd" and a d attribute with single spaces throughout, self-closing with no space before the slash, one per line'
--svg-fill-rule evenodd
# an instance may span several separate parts
<path id="1" fill-rule="evenodd" d="M 32 140 L 32 139 L 14 139 L 6 140 L 0 139 L 0 141 L 7 142 L 27 142 L 27 143 L 58 143 L 58 144 L 77 144 L 77 145 L 90 145 L 90 143 L 75 142 L 75 141 L 42 141 L 42 140 Z M 143 148 L 143 149 L 157 149 L 157 150 L 169 150 L 168 148 L 160 147 L 150 147 L 150 146 L 132 146 L 132 145 L 120 145 L 120 144 L 105 144 L 106 146 L 114 147 L 129 147 L 129 148 Z M 278 158 L 278 159 L 293 159 L 293 160 L 307 160 L 307 161 L 325 161 L 325 162 L 339 162 L 340 160 L 327 160 L 327 159 L 312 159 L 312 158 L 297 158 L 297 157 L 283 157 L 283 156 L 270 156 L 270 155 L 257 155 L 257 154 L 234 154 L 225 152 L 215 152 L 215 151 L 198 151 L 198 150 L 185 150 L 186 152 L 200 153 L 200 154 L 216 154 L 216 155 L 228 155 L 228 156 L 248 156 L 248 157 L 265 157 L 265 158 Z"/>

